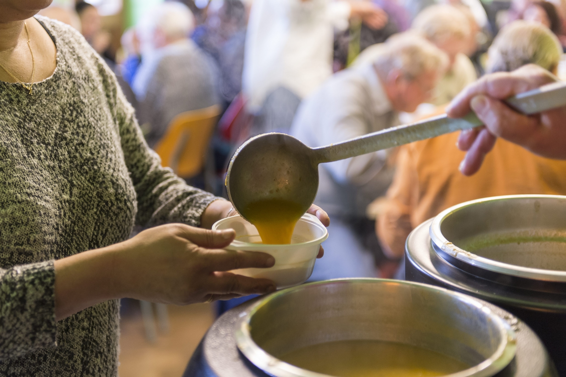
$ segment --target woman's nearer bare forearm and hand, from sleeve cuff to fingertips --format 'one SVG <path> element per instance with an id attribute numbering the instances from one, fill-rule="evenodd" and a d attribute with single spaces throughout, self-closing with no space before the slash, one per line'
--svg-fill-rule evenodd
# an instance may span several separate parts
<path id="1" fill-rule="evenodd" d="M 233 230 L 168 224 L 103 249 L 56 260 L 57 320 L 114 298 L 185 305 L 275 291 L 270 280 L 226 272 L 275 263 L 262 252 L 222 250 L 234 237 Z"/>

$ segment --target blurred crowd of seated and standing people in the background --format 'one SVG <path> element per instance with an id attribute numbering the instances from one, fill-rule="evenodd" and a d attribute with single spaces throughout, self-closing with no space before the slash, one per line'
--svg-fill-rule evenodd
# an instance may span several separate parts
<path id="1" fill-rule="evenodd" d="M 78 29 L 113 68 L 164 165 L 217 195 L 252 136 L 284 132 L 320 147 L 442 114 L 486 73 L 566 68 L 566 0 L 166 1 L 118 48 L 89 3 L 42 14 Z M 504 140 L 479 173 L 460 174 L 457 139 L 321 165 L 315 204 L 332 221 L 311 280 L 402 278 L 408 234 L 443 209 L 566 195 L 566 162 Z"/>

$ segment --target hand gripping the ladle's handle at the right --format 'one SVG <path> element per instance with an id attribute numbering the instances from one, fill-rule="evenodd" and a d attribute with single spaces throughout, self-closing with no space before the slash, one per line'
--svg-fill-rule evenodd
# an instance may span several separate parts
<path id="1" fill-rule="evenodd" d="M 450 117 L 463 117 L 473 109 L 485 125 L 460 134 L 458 148 L 468 152 L 460 171 L 477 172 L 498 137 L 543 157 L 566 159 L 566 107 L 523 115 L 501 101 L 555 81 L 547 70 L 527 65 L 511 73 L 483 76 L 454 98 L 447 109 Z"/>

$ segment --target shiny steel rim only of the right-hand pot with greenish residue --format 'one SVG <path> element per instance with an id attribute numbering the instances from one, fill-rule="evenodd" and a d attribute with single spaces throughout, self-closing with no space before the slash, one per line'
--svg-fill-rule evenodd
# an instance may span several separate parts
<path id="1" fill-rule="evenodd" d="M 460 247 L 454 245 L 452 242 L 448 241 L 446 237 L 440 231 L 440 226 L 442 222 L 447 219 L 452 213 L 460 211 L 461 209 L 471 207 L 472 205 L 484 202 L 495 202 L 496 200 L 509 200 L 509 199 L 561 199 L 566 200 L 566 196 L 563 195 L 543 195 L 543 194 L 528 194 L 528 195 L 501 195 L 501 196 L 491 196 L 490 198 L 482 198 L 470 200 L 469 202 L 464 202 L 460 204 L 453 205 L 450 208 L 445 209 L 440 212 L 438 216 L 434 218 L 432 224 L 430 225 L 430 238 L 436 246 L 442 251 L 453 256 L 454 258 L 461 260 L 462 262 L 468 263 L 475 267 L 487 269 L 488 271 L 504 273 L 505 275 L 512 275 L 517 277 L 524 277 L 526 279 L 534 280 L 545 280 L 545 281 L 556 281 L 556 282 L 566 282 L 566 271 L 558 271 L 552 269 L 542 269 L 542 268 L 531 268 L 522 267 L 520 265 L 514 265 L 509 263 L 498 262 L 497 260 L 488 259 L 483 256 L 474 254 Z"/>

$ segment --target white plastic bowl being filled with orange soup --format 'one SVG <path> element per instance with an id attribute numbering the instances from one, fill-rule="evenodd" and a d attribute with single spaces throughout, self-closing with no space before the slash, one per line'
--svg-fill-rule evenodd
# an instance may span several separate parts
<path id="1" fill-rule="evenodd" d="M 328 238 L 328 231 L 324 225 L 310 213 L 305 213 L 297 222 L 289 245 L 264 245 L 255 226 L 240 215 L 219 220 L 212 229 L 236 231 L 236 238 L 225 248 L 227 250 L 261 251 L 273 255 L 275 258 L 273 267 L 241 268 L 230 272 L 272 280 L 277 285 L 277 289 L 305 282 L 315 266 L 320 244 Z"/>

